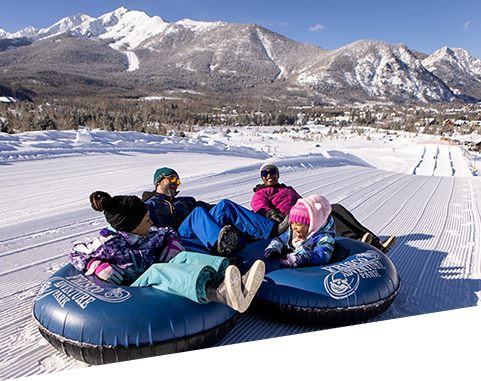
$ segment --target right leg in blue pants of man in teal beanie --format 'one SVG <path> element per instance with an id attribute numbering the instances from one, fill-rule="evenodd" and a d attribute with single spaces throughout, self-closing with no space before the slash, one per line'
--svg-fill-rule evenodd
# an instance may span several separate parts
<path id="1" fill-rule="evenodd" d="M 221 226 L 235 226 L 241 233 L 260 239 L 269 238 L 274 222 L 233 201 L 224 199 L 210 213 Z"/>

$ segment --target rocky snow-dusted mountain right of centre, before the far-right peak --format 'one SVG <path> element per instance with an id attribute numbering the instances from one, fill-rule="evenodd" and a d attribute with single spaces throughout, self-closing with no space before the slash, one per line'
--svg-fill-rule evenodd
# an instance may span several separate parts
<path id="1" fill-rule="evenodd" d="M 357 41 L 330 51 L 297 77 L 323 93 L 358 92 L 397 101 L 452 101 L 451 91 L 432 76 L 404 44 Z"/>

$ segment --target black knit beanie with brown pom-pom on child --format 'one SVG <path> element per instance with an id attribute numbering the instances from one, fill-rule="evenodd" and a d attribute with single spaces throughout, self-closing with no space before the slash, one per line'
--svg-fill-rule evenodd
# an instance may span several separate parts
<path id="1" fill-rule="evenodd" d="M 130 233 L 142 222 L 147 213 L 145 205 L 137 196 L 114 196 L 97 191 L 90 195 L 92 208 L 104 212 L 107 222 L 115 230 Z"/>

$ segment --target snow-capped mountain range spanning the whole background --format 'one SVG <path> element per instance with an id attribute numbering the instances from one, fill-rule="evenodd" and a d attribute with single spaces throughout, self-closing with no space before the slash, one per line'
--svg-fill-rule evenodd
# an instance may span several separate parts
<path id="1" fill-rule="evenodd" d="M 360 40 L 335 50 L 255 24 L 166 22 L 119 8 L 0 29 L 0 93 L 204 97 L 291 105 L 481 99 L 481 60 Z"/>

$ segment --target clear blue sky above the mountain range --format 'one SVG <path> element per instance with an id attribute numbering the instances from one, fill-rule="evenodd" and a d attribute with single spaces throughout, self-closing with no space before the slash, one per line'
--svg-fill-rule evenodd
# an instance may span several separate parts
<path id="1" fill-rule="evenodd" d="M 481 0 L 3 0 L 0 29 L 46 28 L 63 17 L 99 17 L 121 6 L 169 22 L 254 23 L 324 49 L 369 39 L 426 54 L 463 48 L 481 59 Z"/>

